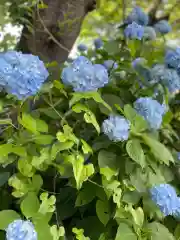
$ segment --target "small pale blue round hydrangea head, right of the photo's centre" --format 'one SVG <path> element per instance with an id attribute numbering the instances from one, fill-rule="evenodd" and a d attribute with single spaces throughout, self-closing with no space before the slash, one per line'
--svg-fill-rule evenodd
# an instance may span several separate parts
<path id="1" fill-rule="evenodd" d="M 127 140 L 130 122 L 123 117 L 110 115 L 102 124 L 102 131 L 114 142 Z"/>

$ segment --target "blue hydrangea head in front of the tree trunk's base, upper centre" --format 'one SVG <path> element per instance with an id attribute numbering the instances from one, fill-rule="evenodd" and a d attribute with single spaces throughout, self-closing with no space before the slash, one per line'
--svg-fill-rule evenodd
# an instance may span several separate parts
<path id="1" fill-rule="evenodd" d="M 109 81 L 108 71 L 101 64 L 92 64 L 84 56 L 78 57 L 62 71 L 62 81 L 73 87 L 75 92 L 96 91 Z"/>

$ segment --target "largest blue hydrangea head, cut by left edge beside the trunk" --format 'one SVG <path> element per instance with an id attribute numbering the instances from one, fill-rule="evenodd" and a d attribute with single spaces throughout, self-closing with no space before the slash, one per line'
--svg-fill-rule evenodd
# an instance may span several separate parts
<path id="1" fill-rule="evenodd" d="M 0 54 L 0 87 L 20 100 L 35 95 L 48 76 L 37 56 L 16 51 Z"/>

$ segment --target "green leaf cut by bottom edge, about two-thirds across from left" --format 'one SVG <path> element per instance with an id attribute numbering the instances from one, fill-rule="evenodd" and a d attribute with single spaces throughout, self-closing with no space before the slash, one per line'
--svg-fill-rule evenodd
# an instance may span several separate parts
<path id="1" fill-rule="evenodd" d="M 115 240 L 137 240 L 137 236 L 133 229 L 126 223 L 120 223 Z"/>

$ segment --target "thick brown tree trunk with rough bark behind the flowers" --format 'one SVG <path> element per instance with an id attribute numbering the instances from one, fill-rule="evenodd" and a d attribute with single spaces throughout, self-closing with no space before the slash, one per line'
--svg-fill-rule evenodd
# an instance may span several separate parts
<path id="1" fill-rule="evenodd" d="M 47 8 L 34 10 L 33 34 L 25 26 L 18 50 L 43 61 L 63 63 L 71 51 L 88 12 L 96 0 L 44 0 Z"/>

